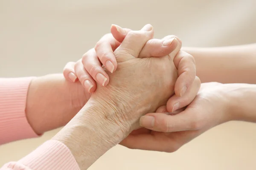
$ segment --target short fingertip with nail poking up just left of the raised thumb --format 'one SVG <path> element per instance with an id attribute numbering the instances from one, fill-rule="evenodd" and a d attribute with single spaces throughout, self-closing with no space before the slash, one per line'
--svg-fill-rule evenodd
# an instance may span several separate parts
<path id="1" fill-rule="evenodd" d="M 111 25 L 110 28 L 111 34 L 113 35 L 113 37 L 118 41 L 118 42 L 122 42 L 125 39 L 125 36 L 128 34 L 128 32 L 131 31 L 131 29 L 128 28 L 122 28 L 120 26 Z"/>

